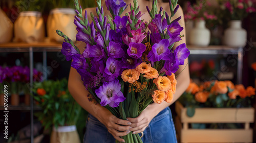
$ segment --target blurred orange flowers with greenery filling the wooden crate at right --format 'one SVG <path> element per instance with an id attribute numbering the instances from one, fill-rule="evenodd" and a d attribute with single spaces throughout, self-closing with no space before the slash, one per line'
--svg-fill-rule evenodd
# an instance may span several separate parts
<path id="1" fill-rule="evenodd" d="M 255 88 L 234 85 L 231 81 L 207 81 L 199 86 L 190 82 L 179 101 L 188 108 L 187 115 L 193 116 L 198 107 L 250 107 L 254 95 Z"/>

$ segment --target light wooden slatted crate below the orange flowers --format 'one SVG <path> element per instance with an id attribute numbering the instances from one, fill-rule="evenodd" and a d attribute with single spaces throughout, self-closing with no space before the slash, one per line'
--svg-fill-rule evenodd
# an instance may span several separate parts
<path id="1" fill-rule="evenodd" d="M 175 127 L 178 140 L 187 142 L 252 142 L 254 108 L 196 108 L 195 115 L 188 117 L 186 108 L 176 102 Z M 189 123 L 244 123 L 244 129 L 190 129 Z M 183 126 L 182 126 L 183 125 Z"/>

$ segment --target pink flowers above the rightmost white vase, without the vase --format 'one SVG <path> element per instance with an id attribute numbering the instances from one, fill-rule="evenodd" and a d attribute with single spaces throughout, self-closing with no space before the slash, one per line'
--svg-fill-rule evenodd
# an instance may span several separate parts
<path id="1" fill-rule="evenodd" d="M 219 2 L 221 9 L 225 13 L 224 18 L 231 18 L 231 20 L 242 20 L 248 13 L 256 12 L 251 0 L 225 0 Z"/>

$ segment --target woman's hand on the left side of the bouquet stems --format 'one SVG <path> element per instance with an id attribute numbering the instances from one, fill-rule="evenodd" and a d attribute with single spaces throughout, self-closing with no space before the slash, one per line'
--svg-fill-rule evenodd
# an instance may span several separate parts
<path id="1" fill-rule="evenodd" d="M 114 116 L 110 111 L 103 116 L 102 120 L 99 121 L 105 125 L 108 131 L 120 142 L 125 142 L 124 139 L 119 136 L 125 136 L 130 133 L 130 126 L 132 123 L 130 121 L 121 120 Z"/>

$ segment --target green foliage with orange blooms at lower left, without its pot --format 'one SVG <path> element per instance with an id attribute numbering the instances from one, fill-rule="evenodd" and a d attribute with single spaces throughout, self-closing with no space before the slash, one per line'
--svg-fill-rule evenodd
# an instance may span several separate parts
<path id="1" fill-rule="evenodd" d="M 42 126 L 47 129 L 76 124 L 81 106 L 69 93 L 66 79 L 35 82 L 32 91 L 36 104 L 42 108 L 35 113 Z"/>

